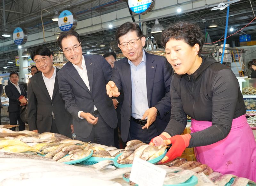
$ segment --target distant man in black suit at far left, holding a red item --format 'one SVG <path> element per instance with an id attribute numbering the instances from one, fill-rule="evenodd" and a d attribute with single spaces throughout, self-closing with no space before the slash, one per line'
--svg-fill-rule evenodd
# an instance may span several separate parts
<path id="1" fill-rule="evenodd" d="M 20 118 L 20 108 L 24 106 L 19 101 L 20 96 L 27 97 L 27 92 L 25 91 L 25 87 L 18 83 L 19 74 L 17 72 L 11 72 L 10 75 L 10 83 L 4 87 L 5 94 L 9 98 L 9 106 L 8 112 L 10 117 L 10 125 L 17 125 L 17 121 L 19 120 L 19 131 L 25 130 L 25 123 Z M 11 128 L 11 130 L 15 130 L 15 128 Z"/>

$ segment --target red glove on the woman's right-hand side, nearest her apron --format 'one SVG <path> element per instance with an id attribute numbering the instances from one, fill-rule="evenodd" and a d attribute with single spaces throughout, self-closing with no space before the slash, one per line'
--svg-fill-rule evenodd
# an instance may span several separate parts
<path id="1" fill-rule="evenodd" d="M 167 152 L 167 154 L 165 155 L 165 157 L 162 159 L 161 162 L 166 163 L 168 161 L 172 161 L 175 158 L 181 156 L 185 148 L 188 147 L 190 139 L 191 139 L 191 135 L 185 134 L 185 135 L 175 135 L 165 140 L 165 143 L 172 144 L 172 147 Z"/>

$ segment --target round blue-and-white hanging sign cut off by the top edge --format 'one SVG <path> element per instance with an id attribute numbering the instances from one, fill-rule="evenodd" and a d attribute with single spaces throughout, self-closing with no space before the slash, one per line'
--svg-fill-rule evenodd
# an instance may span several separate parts
<path id="1" fill-rule="evenodd" d="M 137 14 L 146 14 L 152 10 L 155 0 L 128 0 L 131 11 Z"/>

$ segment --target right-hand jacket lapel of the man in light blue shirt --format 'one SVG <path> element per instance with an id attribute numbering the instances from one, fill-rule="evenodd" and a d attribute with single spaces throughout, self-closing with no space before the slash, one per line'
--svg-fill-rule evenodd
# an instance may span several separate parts
<path id="1" fill-rule="evenodd" d="M 156 63 L 153 63 L 154 58 L 152 58 L 148 53 L 145 52 L 145 55 L 146 55 L 146 82 L 147 82 L 148 107 L 150 107 L 151 94 L 152 94 L 155 72 L 156 72 Z"/>

